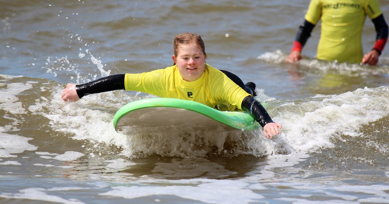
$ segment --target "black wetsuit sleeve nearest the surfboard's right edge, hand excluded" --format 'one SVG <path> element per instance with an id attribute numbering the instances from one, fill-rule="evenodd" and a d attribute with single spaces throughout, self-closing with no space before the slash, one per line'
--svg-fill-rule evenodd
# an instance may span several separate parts
<path id="1" fill-rule="evenodd" d="M 253 97 L 246 96 L 242 101 L 242 110 L 248 112 L 254 119 L 264 127 L 267 123 L 274 123 L 265 108 Z"/>

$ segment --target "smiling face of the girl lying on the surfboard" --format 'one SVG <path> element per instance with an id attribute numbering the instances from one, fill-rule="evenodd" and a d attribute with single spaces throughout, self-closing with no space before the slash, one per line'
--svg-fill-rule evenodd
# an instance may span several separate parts
<path id="1" fill-rule="evenodd" d="M 172 56 L 185 81 L 195 81 L 201 77 L 205 70 L 205 58 L 203 51 L 195 43 L 180 45 L 177 57 Z"/>

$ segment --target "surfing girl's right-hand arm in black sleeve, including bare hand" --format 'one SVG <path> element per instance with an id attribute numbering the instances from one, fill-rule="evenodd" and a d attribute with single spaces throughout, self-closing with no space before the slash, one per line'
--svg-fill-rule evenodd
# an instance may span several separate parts
<path id="1" fill-rule="evenodd" d="M 246 96 L 243 99 L 242 109 L 254 117 L 254 119 L 264 128 L 264 133 L 267 138 L 280 133 L 279 128 L 282 128 L 282 125 L 273 122 L 265 108 L 253 97 Z"/>

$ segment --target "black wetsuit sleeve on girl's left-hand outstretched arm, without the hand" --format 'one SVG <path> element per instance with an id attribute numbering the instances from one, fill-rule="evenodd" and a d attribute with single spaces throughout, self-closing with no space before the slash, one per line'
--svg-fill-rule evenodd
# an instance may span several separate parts
<path id="1" fill-rule="evenodd" d="M 115 74 L 99 78 L 97 80 L 76 85 L 76 91 L 79 98 L 91 93 L 102 93 L 124 88 L 125 74 Z"/>

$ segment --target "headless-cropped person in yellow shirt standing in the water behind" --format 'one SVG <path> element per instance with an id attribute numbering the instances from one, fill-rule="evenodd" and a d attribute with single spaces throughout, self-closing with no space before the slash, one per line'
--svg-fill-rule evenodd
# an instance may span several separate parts
<path id="1" fill-rule="evenodd" d="M 376 41 L 363 56 L 362 30 L 368 16 L 374 24 Z M 388 25 L 378 0 L 311 0 L 286 61 L 302 58 L 301 51 L 318 20 L 321 34 L 317 58 L 320 60 L 376 65 L 388 39 Z"/>

